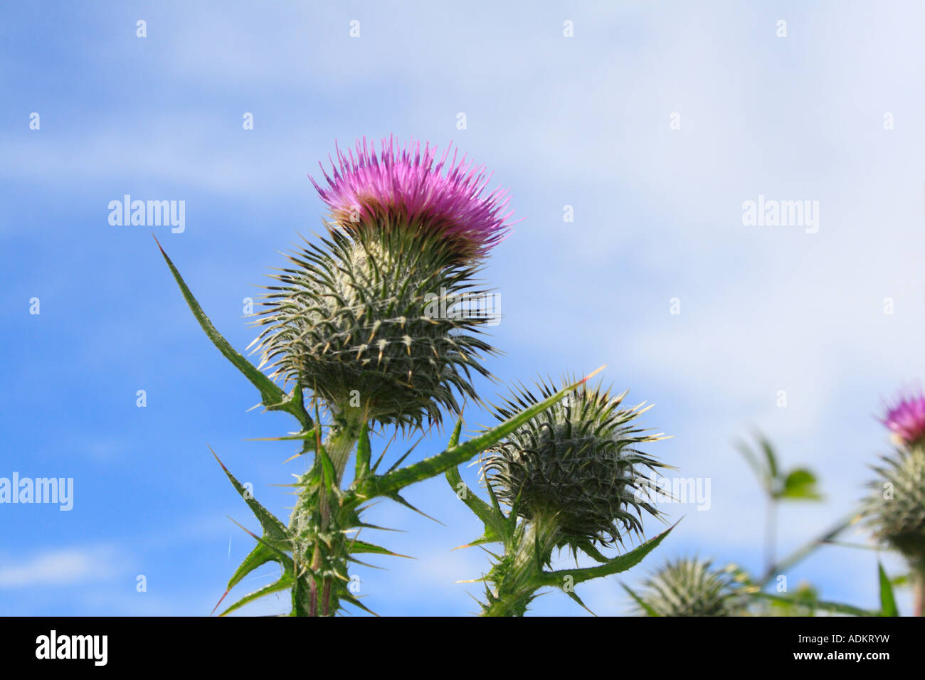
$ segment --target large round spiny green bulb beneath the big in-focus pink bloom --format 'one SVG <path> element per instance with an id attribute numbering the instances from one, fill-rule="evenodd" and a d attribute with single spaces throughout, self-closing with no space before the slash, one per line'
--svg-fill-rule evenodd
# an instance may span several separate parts
<path id="1" fill-rule="evenodd" d="M 290 255 L 267 287 L 265 328 L 255 340 L 272 377 L 300 381 L 333 411 L 359 422 L 421 427 L 455 394 L 477 400 L 471 371 L 488 376 L 478 337 L 485 318 L 453 314 L 477 269 L 458 264 L 432 237 L 401 229 L 331 227 L 323 245 Z"/>

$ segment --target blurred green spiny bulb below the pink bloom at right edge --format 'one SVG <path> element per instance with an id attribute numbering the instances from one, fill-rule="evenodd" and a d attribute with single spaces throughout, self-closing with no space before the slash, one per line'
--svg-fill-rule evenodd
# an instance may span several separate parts
<path id="1" fill-rule="evenodd" d="M 865 514 L 874 535 L 925 569 L 925 444 L 897 449 L 870 484 Z"/>

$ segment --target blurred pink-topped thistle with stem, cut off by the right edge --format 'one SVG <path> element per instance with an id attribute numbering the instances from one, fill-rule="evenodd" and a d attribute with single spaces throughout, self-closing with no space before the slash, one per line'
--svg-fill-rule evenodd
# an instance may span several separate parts
<path id="1" fill-rule="evenodd" d="M 874 537 L 899 551 L 912 570 L 916 615 L 925 600 L 925 396 L 904 396 L 883 417 L 894 452 L 873 469 L 865 502 Z"/>

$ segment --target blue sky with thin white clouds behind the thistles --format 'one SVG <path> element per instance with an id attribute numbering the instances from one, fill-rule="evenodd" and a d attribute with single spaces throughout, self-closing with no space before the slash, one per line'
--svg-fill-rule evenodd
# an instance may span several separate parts
<path id="1" fill-rule="evenodd" d="M 251 547 L 228 515 L 254 523 L 207 445 L 287 513 L 287 489 L 272 485 L 302 463 L 281 465 L 285 442 L 244 439 L 292 423 L 248 410 L 256 393 L 196 326 L 151 234 L 243 349 L 242 300 L 279 251 L 321 229 L 307 173 L 335 141 L 363 135 L 452 140 L 511 188 L 524 221 L 485 271 L 504 313 L 492 340 L 507 353 L 489 363 L 500 381 L 607 364 L 615 388 L 657 404 L 645 424 L 673 435 L 650 452 L 711 480 L 709 511 L 667 506 L 684 521 L 627 583 L 692 553 L 759 569 L 764 507 L 732 445 L 752 427 L 783 464 L 816 470 L 826 494 L 783 509 L 779 551 L 814 536 L 888 450 L 882 400 L 925 374 L 923 13 L 900 2 L 5 6 L 0 476 L 72 477 L 74 507 L 0 505 L 0 613 L 210 612 Z M 127 193 L 184 201 L 186 229 L 110 225 L 107 205 Z M 818 232 L 744 225 L 743 203 L 759 195 L 818 201 Z M 470 427 L 487 422 L 467 414 Z M 429 439 L 414 455 L 440 448 Z M 372 521 L 407 532 L 380 542 L 417 559 L 361 568 L 364 601 L 382 614 L 473 612 L 477 590 L 454 582 L 480 575 L 486 556 L 450 549 L 475 538 L 474 517 L 442 479 L 408 496 L 444 525 L 376 505 Z M 873 607 L 877 559 L 827 548 L 788 579 Z M 628 611 L 614 578 L 579 594 L 598 613 Z M 270 599 L 251 612 L 284 608 Z M 583 613 L 561 593 L 535 612 Z"/>

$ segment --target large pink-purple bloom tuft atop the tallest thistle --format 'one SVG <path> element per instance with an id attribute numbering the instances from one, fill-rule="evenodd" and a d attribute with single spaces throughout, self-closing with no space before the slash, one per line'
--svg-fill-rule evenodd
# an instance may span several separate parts
<path id="1" fill-rule="evenodd" d="M 389 136 L 376 154 L 374 144 L 367 145 L 364 137 L 356 142 L 355 155 L 353 150 L 344 155 L 336 146 L 337 162 L 328 156 L 333 178 L 321 166 L 327 188 L 309 179 L 330 207 L 336 226 L 413 229 L 438 236 L 458 258 L 481 257 L 510 231 L 507 219 L 512 211 L 504 211 L 511 198 L 500 188 L 483 196 L 491 175 L 465 155 L 457 162 L 456 150 L 448 164 L 450 146 L 435 165 L 437 147 L 429 143 L 422 153 L 421 142 L 400 149 Z"/>

